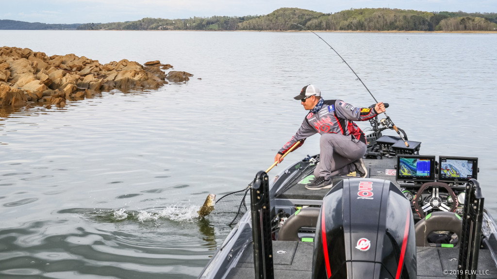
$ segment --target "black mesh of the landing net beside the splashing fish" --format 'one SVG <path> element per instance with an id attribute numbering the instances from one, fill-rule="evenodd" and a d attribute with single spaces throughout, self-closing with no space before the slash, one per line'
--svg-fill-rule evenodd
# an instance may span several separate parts
<path id="1" fill-rule="evenodd" d="M 230 219 L 232 217 L 230 225 L 238 223 L 248 209 L 246 203 L 248 190 L 250 187 L 224 195 L 217 200 L 213 213 L 230 216 Z"/>

